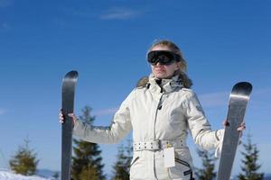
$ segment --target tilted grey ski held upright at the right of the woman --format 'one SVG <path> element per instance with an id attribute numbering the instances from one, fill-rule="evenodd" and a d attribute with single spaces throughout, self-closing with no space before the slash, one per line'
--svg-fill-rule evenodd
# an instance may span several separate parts
<path id="1" fill-rule="evenodd" d="M 240 135 L 237 129 L 244 121 L 251 91 L 252 85 L 250 83 L 240 82 L 233 86 L 231 94 L 229 95 L 229 111 L 224 132 L 217 180 L 229 180 L 230 178 Z"/>

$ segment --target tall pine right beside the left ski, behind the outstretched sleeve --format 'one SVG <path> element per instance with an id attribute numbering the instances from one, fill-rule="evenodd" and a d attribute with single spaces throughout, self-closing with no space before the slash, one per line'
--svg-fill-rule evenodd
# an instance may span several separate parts
<path id="1" fill-rule="evenodd" d="M 79 121 L 84 121 L 92 125 L 95 117 L 90 115 L 91 108 L 85 106 L 82 110 L 82 115 L 79 116 Z M 106 178 L 103 175 L 101 150 L 96 143 L 91 143 L 84 140 L 73 139 L 73 157 L 72 157 L 72 178 L 74 180 L 91 179 L 103 180 Z"/>

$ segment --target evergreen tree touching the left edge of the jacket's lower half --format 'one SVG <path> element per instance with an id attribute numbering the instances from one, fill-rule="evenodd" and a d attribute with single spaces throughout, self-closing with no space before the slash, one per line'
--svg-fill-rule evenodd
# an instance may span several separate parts
<path id="1" fill-rule="evenodd" d="M 117 150 L 117 162 L 113 166 L 113 178 L 112 180 L 129 180 L 129 167 L 132 155 L 133 147 L 131 141 L 128 140 L 127 146 L 121 145 Z"/>

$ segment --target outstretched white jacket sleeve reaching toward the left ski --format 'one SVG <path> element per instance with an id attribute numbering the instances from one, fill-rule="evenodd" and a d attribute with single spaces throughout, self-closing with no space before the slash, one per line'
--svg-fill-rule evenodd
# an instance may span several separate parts
<path id="1" fill-rule="evenodd" d="M 93 143 L 117 143 L 132 129 L 129 110 L 129 103 L 132 98 L 133 92 L 129 94 L 126 100 L 120 105 L 110 126 L 90 126 L 82 121 L 77 121 L 73 128 L 73 134 L 80 139 Z"/>

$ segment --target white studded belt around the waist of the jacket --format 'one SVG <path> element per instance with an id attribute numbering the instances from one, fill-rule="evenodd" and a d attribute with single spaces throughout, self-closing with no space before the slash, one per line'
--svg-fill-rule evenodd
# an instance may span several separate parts
<path id="1" fill-rule="evenodd" d="M 182 140 L 150 140 L 150 141 L 137 141 L 134 142 L 134 150 L 160 150 L 164 148 L 185 148 L 186 144 Z"/>

